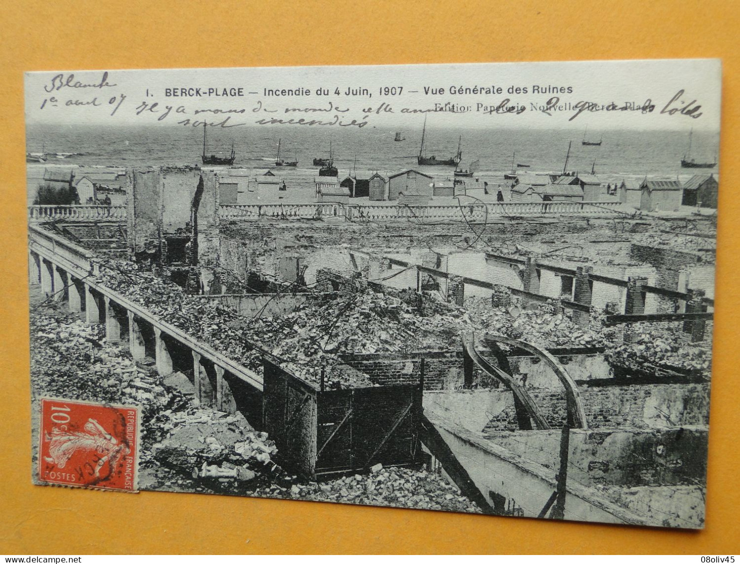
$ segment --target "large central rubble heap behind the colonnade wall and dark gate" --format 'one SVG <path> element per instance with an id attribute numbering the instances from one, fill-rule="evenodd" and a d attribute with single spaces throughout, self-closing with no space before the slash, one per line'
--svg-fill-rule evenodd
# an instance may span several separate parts
<path id="1" fill-rule="evenodd" d="M 186 295 L 174 283 L 132 263 L 117 262 L 101 269 L 101 282 L 255 372 L 261 372 L 262 355 L 269 352 L 280 359 L 281 366 L 314 383 L 320 380 L 321 366 L 337 363 L 337 355 L 343 352 L 448 346 L 445 335 L 435 338 L 434 328 L 427 331 L 417 324 L 411 306 L 371 290 L 307 301 L 281 318 L 243 318 L 229 307 Z M 336 378 L 327 381 L 328 386 L 372 386 L 357 371 L 329 371 L 331 375 Z"/>

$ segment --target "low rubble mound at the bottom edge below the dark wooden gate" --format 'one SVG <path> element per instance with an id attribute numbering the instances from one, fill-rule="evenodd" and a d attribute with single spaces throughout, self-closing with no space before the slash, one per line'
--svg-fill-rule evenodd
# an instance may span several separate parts
<path id="1" fill-rule="evenodd" d="M 284 487 L 272 484 L 255 490 L 254 494 L 369 506 L 481 512 L 474 502 L 439 474 L 405 468 L 386 469 L 380 464 L 373 466 L 369 474 L 354 474 L 322 483 L 284 484 Z"/>

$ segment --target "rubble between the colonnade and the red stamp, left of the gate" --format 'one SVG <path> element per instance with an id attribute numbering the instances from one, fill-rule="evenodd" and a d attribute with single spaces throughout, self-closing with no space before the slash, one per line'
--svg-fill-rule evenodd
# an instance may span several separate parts
<path id="1" fill-rule="evenodd" d="M 266 433 L 252 429 L 242 414 L 192 405 L 190 395 L 170 385 L 172 377 L 146 366 L 151 359 L 137 364 L 107 343 L 103 326 L 87 326 L 50 302 L 30 313 L 30 327 L 35 395 L 140 407 L 143 474 L 166 466 L 191 477 L 244 482 L 280 471 L 271 460 L 277 447 Z"/>

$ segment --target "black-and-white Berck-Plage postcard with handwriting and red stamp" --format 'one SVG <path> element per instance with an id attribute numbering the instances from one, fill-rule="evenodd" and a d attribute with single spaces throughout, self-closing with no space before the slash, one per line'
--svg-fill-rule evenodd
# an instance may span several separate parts
<path id="1" fill-rule="evenodd" d="M 720 61 L 25 88 L 35 483 L 703 526 Z"/>

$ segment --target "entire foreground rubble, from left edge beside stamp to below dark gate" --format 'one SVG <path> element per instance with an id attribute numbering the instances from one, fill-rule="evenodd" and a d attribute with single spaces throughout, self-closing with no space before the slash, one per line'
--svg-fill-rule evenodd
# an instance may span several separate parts
<path id="1" fill-rule="evenodd" d="M 371 474 L 306 483 L 273 462 L 275 443 L 242 414 L 194 405 L 180 381 L 186 375 L 161 377 L 152 359 L 136 363 L 107 343 L 103 326 L 87 326 L 54 302 L 34 309 L 30 322 L 34 395 L 141 407 L 141 489 L 480 512 L 427 471 L 377 465 Z"/>

